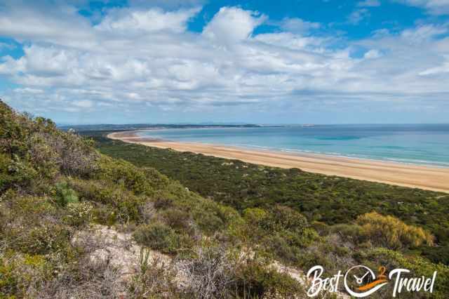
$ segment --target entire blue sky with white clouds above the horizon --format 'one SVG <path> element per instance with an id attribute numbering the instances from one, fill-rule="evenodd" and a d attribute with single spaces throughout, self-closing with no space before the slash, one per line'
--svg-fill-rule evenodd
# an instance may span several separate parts
<path id="1" fill-rule="evenodd" d="M 449 0 L 0 0 L 0 98 L 58 124 L 449 123 Z"/>

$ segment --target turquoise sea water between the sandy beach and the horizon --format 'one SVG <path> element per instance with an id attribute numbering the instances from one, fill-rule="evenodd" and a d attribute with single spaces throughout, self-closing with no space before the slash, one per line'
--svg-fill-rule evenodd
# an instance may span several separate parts
<path id="1" fill-rule="evenodd" d="M 449 124 L 177 128 L 144 131 L 140 135 L 449 167 Z"/>

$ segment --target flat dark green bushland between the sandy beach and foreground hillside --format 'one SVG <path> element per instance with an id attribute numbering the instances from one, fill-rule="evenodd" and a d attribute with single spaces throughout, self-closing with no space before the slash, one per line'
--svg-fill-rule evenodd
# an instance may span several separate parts
<path id="1" fill-rule="evenodd" d="M 449 265 L 448 194 L 163 150 L 109 140 L 106 134 L 88 132 L 100 152 L 136 166 L 152 166 L 189 190 L 240 212 L 281 204 L 309 222 L 326 225 L 351 224 L 373 211 L 394 216 L 434 235 L 437 246 L 423 242 L 414 246 L 414 253 Z"/>

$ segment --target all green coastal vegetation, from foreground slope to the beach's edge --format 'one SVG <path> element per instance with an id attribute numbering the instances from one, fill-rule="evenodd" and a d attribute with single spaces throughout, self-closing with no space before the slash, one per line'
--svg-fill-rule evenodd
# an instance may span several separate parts
<path id="1" fill-rule="evenodd" d="M 356 188 L 356 180 L 310 176 L 293 188 L 291 180 L 307 174 L 116 141 L 96 150 L 93 140 L 3 102 L 0 138 L 0 298 L 304 298 L 307 283 L 292 273 L 323 265 L 333 274 L 359 264 L 406 267 L 414 276 L 437 271 L 432 296 L 449 293 L 449 267 L 422 255 L 423 248 L 445 248 L 447 219 L 435 219 L 448 206 L 441 194 L 378 184 L 369 202 L 379 203 L 369 206 L 355 200 L 366 182 Z M 163 166 L 168 159 L 178 171 Z M 229 171 L 214 181 L 210 165 Z M 285 189 L 269 190 L 279 178 Z M 248 187 L 230 187 L 234 180 Z M 333 192 L 324 187 L 333 185 Z M 291 188 L 310 200 L 280 200 Z M 391 190 L 403 196 L 387 199 Z M 407 194 L 429 202 L 419 210 Z M 399 198 L 398 215 L 389 204 Z M 358 210 L 342 213 L 351 200 Z M 421 219 L 430 201 L 436 212 Z M 390 294 L 384 288 L 375 296 Z"/>

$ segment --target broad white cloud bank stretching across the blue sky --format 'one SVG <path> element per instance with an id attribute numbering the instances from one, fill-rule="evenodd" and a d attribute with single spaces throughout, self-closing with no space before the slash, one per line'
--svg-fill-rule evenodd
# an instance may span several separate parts
<path id="1" fill-rule="evenodd" d="M 269 16 L 223 7 L 202 32 L 190 32 L 196 4 L 114 8 L 93 25 L 73 6 L 7 1 L 0 34 L 23 43 L 24 55 L 0 57 L 0 74 L 20 86 L 4 98 L 35 113 L 129 114 L 145 107 L 270 111 L 314 100 L 447 100 L 449 39 L 441 35 L 448 24 L 380 29 L 347 41 L 314 35 L 323 25 L 302 19 L 279 20 L 274 32 L 257 34 Z M 346 46 L 335 47 L 338 41 Z M 355 58 L 353 46 L 368 51 Z"/>

